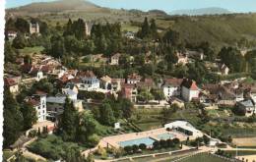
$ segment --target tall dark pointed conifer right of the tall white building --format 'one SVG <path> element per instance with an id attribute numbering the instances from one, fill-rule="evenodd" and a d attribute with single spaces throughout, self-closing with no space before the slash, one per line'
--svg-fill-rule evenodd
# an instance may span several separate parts
<path id="1" fill-rule="evenodd" d="M 73 102 L 67 97 L 64 104 L 64 111 L 59 121 L 59 132 L 64 140 L 74 141 L 77 135 L 77 110 Z"/>

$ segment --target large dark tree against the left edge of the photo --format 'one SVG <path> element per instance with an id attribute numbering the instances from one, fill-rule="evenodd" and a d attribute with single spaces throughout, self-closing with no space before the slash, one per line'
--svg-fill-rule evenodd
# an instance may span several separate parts
<path id="1" fill-rule="evenodd" d="M 4 89 L 3 147 L 14 143 L 23 130 L 23 115 L 8 88 Z"/>

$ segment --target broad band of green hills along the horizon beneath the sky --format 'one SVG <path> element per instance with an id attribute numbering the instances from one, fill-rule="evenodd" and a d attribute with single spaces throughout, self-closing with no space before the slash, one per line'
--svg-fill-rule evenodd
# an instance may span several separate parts
<path id="1" fill-rule="evenodd" d="M 166 28 L 179 32 L 181 39 L 189 43 L 209 41 L 211 44 L 236 45 L 246 39 L 256 46 L 256 14 L 225 14 L 208 16 L 168 16 L 160 10 L 142 12 L 136 10 L 116 10 L 96 6 L 85 0 L 59 0 L 47 3 L 33 3 L 27 6 L 8 9 L 9 16 L 37 17 L 55 26 L 65 25 L 68 19 L 96 21 L 97 23 L 119 22 L 123 30 L 136 31 L 145 17 L 155 19 L 160 32 Z"/>

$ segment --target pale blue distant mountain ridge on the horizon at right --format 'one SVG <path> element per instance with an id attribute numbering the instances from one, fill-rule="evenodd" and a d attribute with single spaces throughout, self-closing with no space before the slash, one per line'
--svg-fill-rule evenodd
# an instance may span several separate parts
<path id="1" fill-rule="evenodd" d="M 175 10 L 169 13 L 169 15 L 188 15 L 188 16 L 200 16 L 200 15 L 221 15 L 230 14 L 231 12 L 218 7 L 194 9 L 194 10 Z"/>

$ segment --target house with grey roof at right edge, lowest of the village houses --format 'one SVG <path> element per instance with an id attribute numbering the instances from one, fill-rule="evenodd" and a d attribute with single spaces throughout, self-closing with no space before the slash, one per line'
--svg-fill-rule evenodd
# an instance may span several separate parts
<path id="1" fill-rule="evenodd" d="M 241 109 L 244 109 L 245 116 L 252 116 L 256 113 L 256 105 L 252 99 L 246 99 L 243 101 L 237 102 L 237 106 Z"/>

